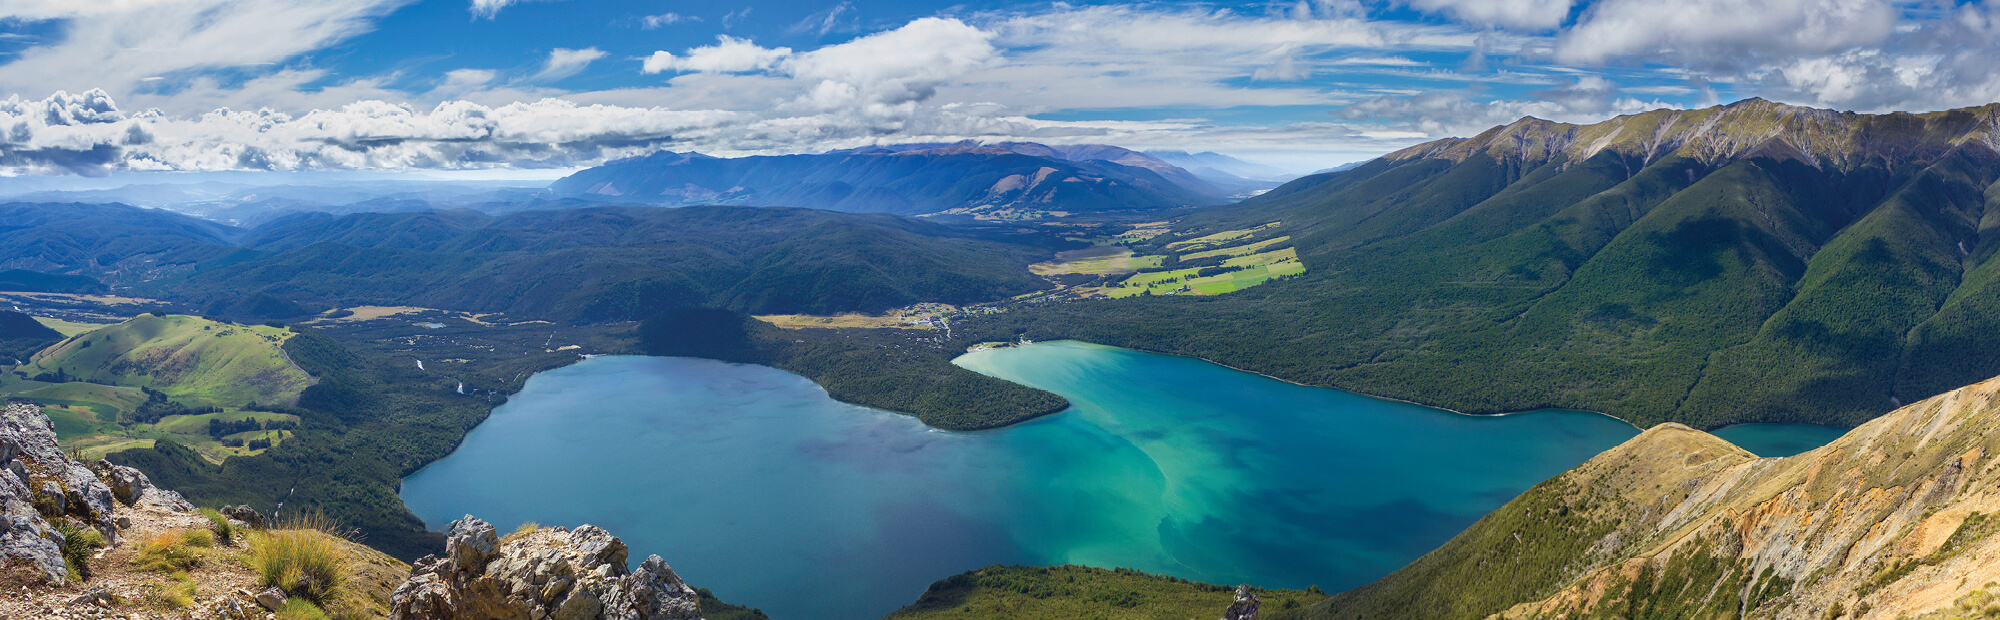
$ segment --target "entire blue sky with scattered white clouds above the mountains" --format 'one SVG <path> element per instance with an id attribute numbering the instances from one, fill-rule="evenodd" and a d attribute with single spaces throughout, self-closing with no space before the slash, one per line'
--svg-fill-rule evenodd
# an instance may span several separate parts
<path id="1" fill-rule="evenodd" d="M 1994 58 L 1984 2 L 0 0 L 0 176 L 956 140 L 1308 172 L 1522 116 L 1978 106 Z"/>

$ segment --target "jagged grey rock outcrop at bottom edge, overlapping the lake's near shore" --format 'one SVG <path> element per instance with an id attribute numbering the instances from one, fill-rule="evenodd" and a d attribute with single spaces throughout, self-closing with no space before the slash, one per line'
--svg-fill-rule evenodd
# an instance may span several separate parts
<path id="1" fill-rule="evenodd" d="M 598 526 L 502 538 L 468 514 L 446 534 L 444 556 L 418 560 L 390 596 L 392 620 L 700 618 L 694 588 L 660 556 L 628 570 L 626 544 Z"/>

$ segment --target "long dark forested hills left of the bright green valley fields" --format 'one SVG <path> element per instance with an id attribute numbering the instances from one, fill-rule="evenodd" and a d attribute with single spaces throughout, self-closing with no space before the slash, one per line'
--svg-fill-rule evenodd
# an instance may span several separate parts
<path id="1" fill-rule="evenodd" d="M 360 304 L 582 322 L 668 306 L 880 312 L 1046 288 L 1028 264 L 1060 244 L 804 208 L 294 214 L 242 230 L 120 204 L 0 206 L 4 266 L 96 276 L 246 320 Z"/>

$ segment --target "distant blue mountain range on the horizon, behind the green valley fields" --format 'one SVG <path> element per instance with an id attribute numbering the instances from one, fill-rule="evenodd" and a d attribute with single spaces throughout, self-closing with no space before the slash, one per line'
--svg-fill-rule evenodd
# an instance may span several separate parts
<path id="1" fill-rule="evenodd" d="M 576 172 L 550 190 L 650 204 L 888 214 L 1160 210 L 1224 202 L 1226 192 L 1186 170 L 1146 160 L 1150 168 L 966 144 L 754 158 L 658 152 Z"/>

